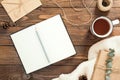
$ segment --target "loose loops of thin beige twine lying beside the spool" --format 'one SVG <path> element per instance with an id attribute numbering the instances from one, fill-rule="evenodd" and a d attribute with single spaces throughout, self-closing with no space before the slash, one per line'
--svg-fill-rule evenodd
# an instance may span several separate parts
<path id="1" fill-rule="evenodd" d="M 88 23 L 92 20 L 92 12 L 90 11 L 89 7 L 92 5 L 92 3 L 94 2 L 94 0 L 91 1 L 89 7 L 87 7 L 87 5 L 86 5 L 86 3 L 85 3 L 85 0 L 82 0 L 82 4 L 83 4 L 83 6 L 87 9 L 87 11 L 88 11 L 88 13 L 89 13 L 89 15 L 90 15 L 90 18 L 89 18 L 89 20 L 88 20 L 87 22 L 83 22 L 83 23 L 81 23 L 81 24 L 73 23 L 72 20 L 69 20 L 68 17 L 67 17 L 67 15 L 66 15 L 65 10 L 64 10 L 56 1 L 52 0 L 52 2 L 55 3 L 55 4 L 62 10 L 63 19 L 65 19 L 69 24 L 71 24 L 71 25 L 73 25 L 73 26 L 81 26 L 81 25 L 83 25 L 83 24 L 88 24 Z M 74 11 L 76 11 L 76 12 L 80 12 L 80 11 L 81 11 L 80 9 L 77 9 L 77 8 L 75 8 L 75 7 L 73 6 L 71 0 L 69 0 L 69 2 L 70 2 L 70 5 L 71 5 L 71 7 L 72 7 L 72 9 L 73 9 Z"/>

